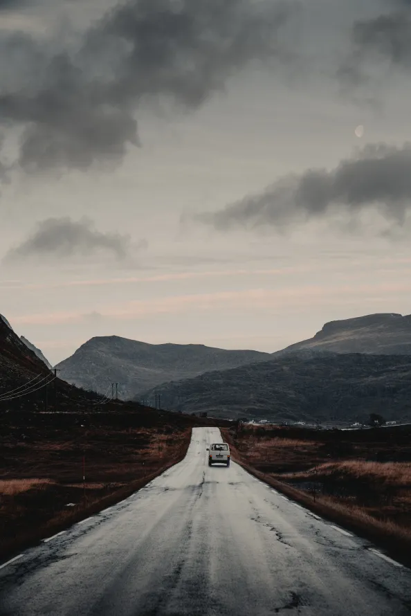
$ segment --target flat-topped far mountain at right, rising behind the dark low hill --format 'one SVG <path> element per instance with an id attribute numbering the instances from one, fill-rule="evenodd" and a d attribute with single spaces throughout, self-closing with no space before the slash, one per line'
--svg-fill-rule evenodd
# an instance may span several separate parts
<path id="1" fill-rule="evenodd" d="M 313 338 L 277 351 L 273 356 L 301 350 L 411 355 L 411 315 L 369 314 L 330 321 Z"/>

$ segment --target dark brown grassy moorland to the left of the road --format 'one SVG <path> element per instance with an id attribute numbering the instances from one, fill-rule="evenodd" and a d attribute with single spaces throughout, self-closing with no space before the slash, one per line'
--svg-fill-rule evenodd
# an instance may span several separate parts
<path id="1" fill-rule="evenodd" d="M 197 420 L 158 415 L 3 416 L 0 559 L 126 498 L 182 460 Z"/>

